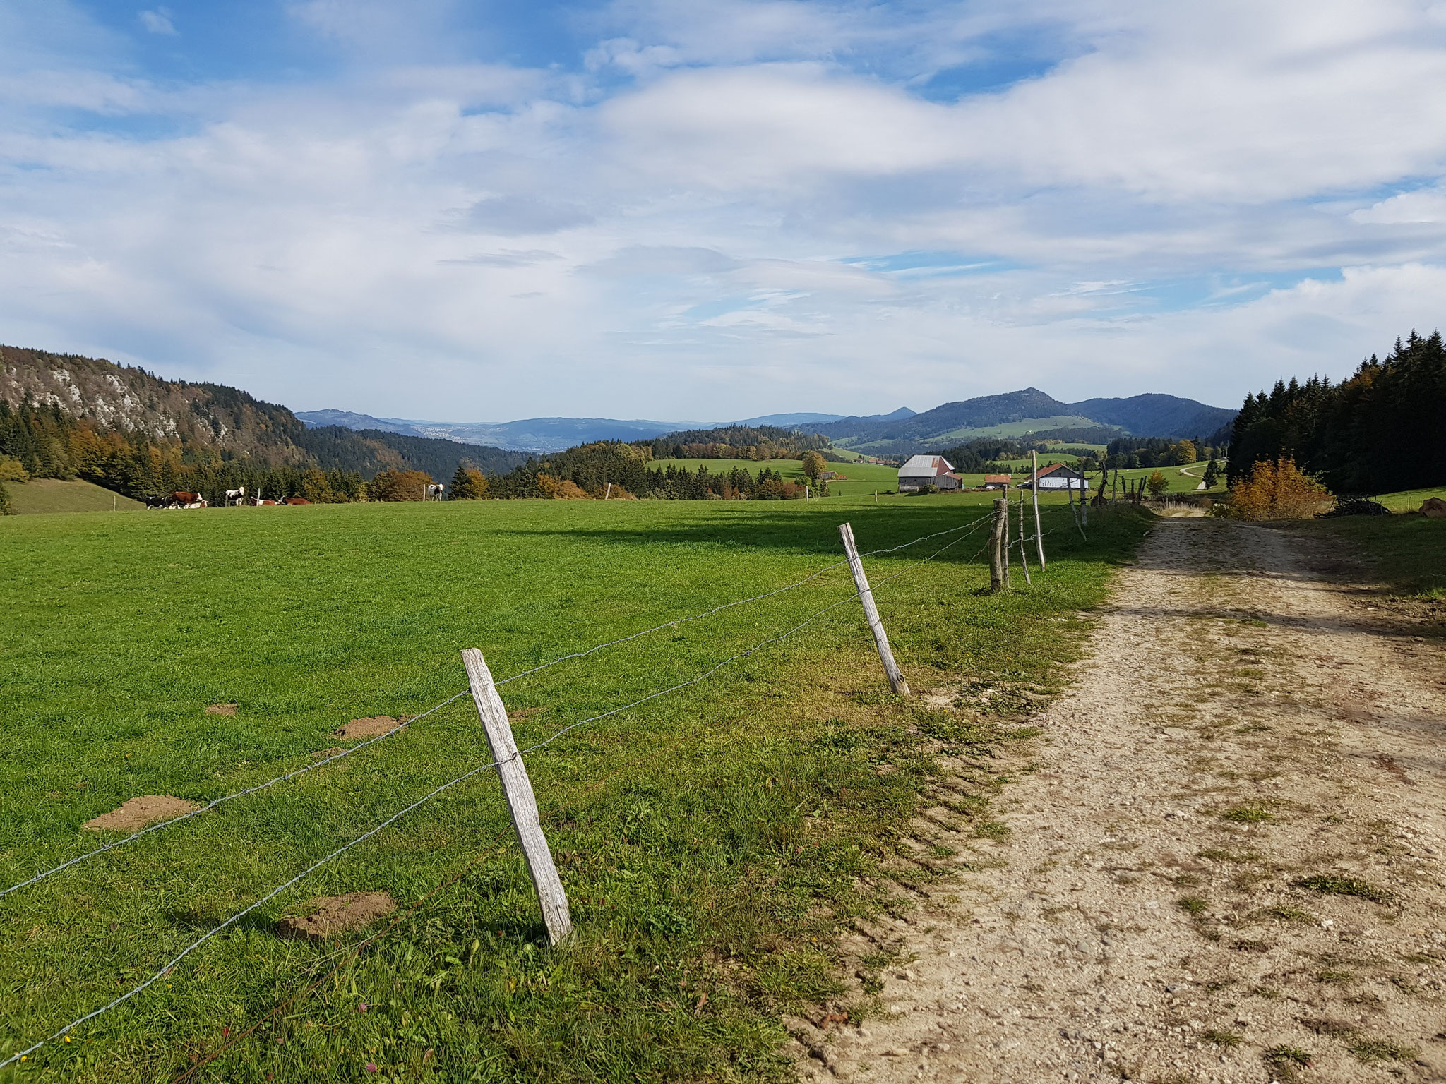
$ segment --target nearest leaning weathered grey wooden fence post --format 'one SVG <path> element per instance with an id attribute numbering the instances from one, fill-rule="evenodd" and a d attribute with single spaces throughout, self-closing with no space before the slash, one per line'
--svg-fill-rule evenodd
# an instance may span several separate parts
<path id="1" fill-rule="evenodd" d="M 518 843 L 522 844 L 522 856 L 528 861 L 528 873 L 532 874 L 532 885 L 536 887 L 538 902 L 542 905 L 542 921 L 547 924 L 548 941 L 558 945 L 573 932 L 573 916 L 568 912 L 562 882 L 557 876 L 557 866 L 552 864 L 552 851 L 548 850 L 547 835 L 542 834 L 542 821 L 538 815 L 532 783 L 528 780 L 528 769 L 522 766 L 518 743 L 512 740 L 508 710 L 502 705 L 497 687 L 492 684 L 492 671 L 487 669 L 482 652 L 476 648 L 464 648 L 461 662 L 467 668 L 471 698 L 477 704 L 477 714 L 482 715 L 482 726 L 487 731 L 487 747 L 492 750 L 492 759 L 497 762 L 497 778 L 502 780 L 502 793 L 512 812 L 512 827 L 518 831 Z"/>

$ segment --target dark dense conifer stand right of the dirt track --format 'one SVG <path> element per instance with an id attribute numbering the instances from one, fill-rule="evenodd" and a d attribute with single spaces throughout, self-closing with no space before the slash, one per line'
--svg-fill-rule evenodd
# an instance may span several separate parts
<path id="1" fill-rule="evenodd" d="M 1293 377 L 1246 396 L 1226 473 L 1235 483 L 1257 463 L 1288 460 L 1338 494 L 1426 489 L 1446 483 L 1443 434 L 1446 348 L 1439 331 L 1411 331 L 1338 384 Z"/>

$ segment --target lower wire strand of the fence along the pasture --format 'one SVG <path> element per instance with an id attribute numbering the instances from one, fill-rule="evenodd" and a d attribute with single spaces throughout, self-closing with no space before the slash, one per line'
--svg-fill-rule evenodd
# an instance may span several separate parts
<path id="1" fill-rule="evenodd" d="M 917 568 L 920 565 L 927 564 L 928 561 L 933 561 L 936 556 L 938 556 L 940 554 L 943 554 L 946 549 L 949 549 L 950 546 L 962 542 L 964 538 L 967 538 L 970 533 L 973 533 L 973 529 L 977 529 L 977 526 L 980 523 L 986 522 L 988 519 L 989 519 L 988 516 L 983 516 L 983 517 L 975 520 L 973 523 L 966 525 L 966 526 L 969 526 L 972 529 L 967 530 L 964 535 L 960 535 L 954 541 L 946 543 L 944 546 L 940 546 L 940 549 L 934 551 L 933 554 L 930 554 L 928 556 L 923 558 L 921 561 L 915 561 L 908 568 L 899 569 L 898 572 L 895 572 L 894 575 L 888 577 L 886 580 L 897 580 L 898 577 L 904 575 L 905 572 L 911 571 L 912 568 Z M 957 530 L 960 530 L 960 529 L 963 529 L 963 528 L 954 528 L 951 530 L 936 532 L 934 535 L 927 535 L 924 538 L 938 538 L 940 535 L 946 535 L 946 533 L 957 533 Z M 892 549 L 882 551 L 882 552 L 894 552 L 894 551 L 898 551 L 898 549 L 904 549 L 908 545 L 914 545 L 914 543 L 917 543 L 920 541 L 924 541 L 924 539 L 915 539 L 914 542 L 908 542 L 908 543 L 904 543 L 901 546 L 894 546 Z M 843 564 L 843 562 L 839 562 L 839 564 Z M 837 567 L 837 565 L 833 565 L 833 567 Z M 827 571 L 827 569 L 821 569 L 821 571 Z M 879 582 L 885 582 L 885 581 L 881 580 Z M 518 757 L 523 756 L 525 753 L 532 753 L 535 750 L 545 749 L 547 746 L 552 744 L 560 737 L 562 737 L 564 734 L 568 734 L 573 730 L 577 730 L 578 727 L 587 726 L 589 723 L 597 723 L 597 721 L 609 718 L 612 715 L 622 714 L 623 711 L 629 711 L 632 708 L 636 708 L 636 707 L 639 707 L 642 704 L 646 704 L 648 701 L 656 700 L 659 697 L 665 697 L 665 695 L 668 695 L 671 692 L 677 692 L 680 689 L 685 689 L 685 688 L 690 688 L 691 685 L 697 685 L 697 684 L 700 684 L 703 681 L 707 681 L 709 678 L 711 678 L 714 674 L 717 674 L 720 669 L 723 669 L 729 663 L 737 662 L 739 659 L 746 659 L 748 656 L 753 655 L 755 652 L 762 650 L 763 648 L 768 648 L 769 645 L 779 643 L 781 640 L 788 639 L 794 633 L 800 632 L 801 629 L 805 629 L 808 624 L 811 624 L 817 619 L 823 617 L 826 613 L 830 613 L 831 610 L 836 610 L 837 607 L 843 606 L 844 603 L 849 603 L 849 601 L 857 598 L 860 594 L 862 594 L 860 591 L 853 591 L 853 594 L 844 595 L 843 598 L 839 598 L 839 600 L 830 603 L 829 606 L 823 607 L 821 610 L 817 610 L 813 614 L 810 614 L 808 617 L 805 617 L 803 621 L 800 621 L 798 624 L 795 624 L 792 629 L 788 629 L 787 632 L 779 633 L 777 636 L 769 636 L 768 639 L 759 640 L 758 643 L 752 645 L 750 648 L 746 648 L 746 649 L 743 649 L 740 652 L 736 652 L 735 655 L 730 655 L 729 658 L 726 658 L 722 662 L 713 665 L 711 668 L 709 668 L 703 674 L 697 675 L 696 678 L 690 678 L 688 681 L 678 682 L 677 685 L 671 685 L 669 688 L 659 689 L 656 692 L 651 692 L 646 697 L 639 697 L 638 700 L 632 701 L 630 704 L 623 704 L 622 707 L 612 708 L 609 711 L 603 711 L 603 713 L 599 713 L 596 715 L 590 715 L 590 717 L 587 717 L 584 720 L 578 720 L 577 723 L 573 723 L 573 724 L 570 724 L 567 727 L 562 727 L 562 728 L 557 730 L 549 737 L 547 737 L 547 739 L 544 739 L 541 741 L 532 743 L 526 749 L 519 749 L 516 753 L 513 753 L 510 757 L 506 757 L 506 759 L 508 760 L 513 760 L 513 759 L 518 759 Z M 667 627 L 667 626 L 659 626 L 659 627 Z M 458 697 L 461 694 L 458 694 Z M 457 700 L 457 697 L 453 697 L 451 700 Z M 451 702 L 451 701 L 447 701 L 447 702 Z M 441 707 L 441 705 L 437 705 L 437 707 Z M 435 711 L 435 710 L 437 708 L 432 708 L 432 711 Z M 275 889 L 272 889 L 270 892 L 268 892 L 265 896 L 260 896 L 259 899 L 256 899 L 254 902 L 249 903 L 241 911 L 237 911 L 234 915 L 231 915 L 226 921 L 223 921 L 218 925 L 213 926 L 210 931 L 207 931 L 205 934 L 202 934 L 201 937 L 198 937 L 195 941 L 192 941 L 189 945 L 187 945 L 185 948 L 182 948 L 179 952 L 176 952 L 176 955 L 174 955 L 165 965 L 161 967 L 161 970 L 158 970 L 155 974 L 152 974 L 145 981 L 137 983 L 130 990 L 127 990 L 126 993 L 123 993 L 119 997 L 113 999 L 111 1002 L 103 1005 L 101 1007 L 93 1009 L 91 1012 L 85 1013 L 84 1016 L 78 1016 L 77 1019 L 71 1020 L 69 1023 L 67 1023 L 59 1031 L 56 1031 L 56 1032 L 54 1032 L 54 1033 L 51 1033 L 51 1035 L 39 1039 L 38 1042 L 32 1044 L 30 1046 L 22 1049 L 22 1051 L 16 1051 L 14 1054 L 12 1054 L 4 1061 L 0 1061 L 0 1068 L 4 1068 L 7 1065 L 13 1065 L 13 1064 L 16 1064 L 19 1061 L 25 1061 L 26 1058 L 29 1058 L 30 1054 L 33 1054 L 35 1051 L 40 1049 L 40 1046 L 43 1046 L 45 1044 L 54 1042 L 55 1039 L 59 1039 L 59 1038 L 65 1036 L 68 1032 L 74 1031 L 80 1025 L 82 1025 L 82 1023 L 85 1023 L 88 1020 L 93 1020 L 97 1016 L 100 1016 L 100 1015 L 103 1015 L 106 1012 L 110 1012 L 111 1009 L 114 1009 L 114 1007 L 117 1007 L 120 1005 L 124 1005 L 132 997 L 134 997 L 136 994 L 145 991 L 146 989 L 149 989 L 150 986 L 153 986 L 155 983 L 158 983 L 161 978 L 163 978 L 166 974 L 169 974 L 171 970 L 174 967 L 176 967 L 176 964 L 179 964 L 182 960 L 185 960 L 188 955 L 191 955 L 191 952 L 194 952 L 197 948 L 200 948 L 201 945 L 204 945 L 211 938 L 217 937 L 218 934 L 221 934 L 226 929 L 228 929 L 230 926 L 233 926 L 236 922 L 239 922 L 246 915 L 249 915 L 253 911 L 256 911 L 263 903 L 268 903 L 269 900 L 275 899 L 282 892 L 285 892 L 286 889 L 292 887 L 298 882 L 304 880 L 309 874 L 315 873 L 318 869 L 321 869 L 327 863 L 330 863 L 330 861 L 341 857 L 343 854 L 346 854 L 347 851 L 350 851 L 353 847 L 364 843 L 366 840 L 370 840 L 373 835 L 376 835 L 377 833 L 380 833 L 383 828 L 388 828 L 389 825 L 395 824 L 398 820 L 401 820 L 402 817 L 405 817 L 406 814 L 409 814 L 412 809 L 416 809 L 418 806 L 425 805 L 427 802 L 429 802 L 432 798 L 435 798 L 437 795 L 442 793 L 444 791 L 450 791 L 451 788 L 457 786 L 458 783 L 463 783 L 467 779 L 471 779 L 477 773 L 486 772 L 486 770 L 493 769 L 493 767 L 497 767 L 502 763 L 503 763 L 502 760 L 493 760 L 493 762 L 489 762 L 486 765 L 479 765 L 477 767 L 473 767 L 473 769 L 461 773 L 455 779 L 451 779 L 451 780 L 448 780 L 448 782 L 445 782 L 445 783 L 442 783 L 442 785 L 440 785 L 437 788 L 432 788 L 431 791 L 428 791 L 425 795 L 422 795 L 421 798 L 418 798 L 411 805 L 406 805 L 402 809 L 398 809 L 395 814 L 392 814 L 390 817 L 388 817 L 380 824 L 375 825 L 373 828 L 369 828 L 362 835 L 357 835 L 356 838 L 348 840 L 347 843 L 344 843 L 343 846 L 337 847 L 334 851 L 331 851 L 325 857 L 318 859 L 317 861 L 314 861 L 311 866 L 308 866 L 307 869 L 304 869 L 301 873 L 298 873 L 291 880 L 288 880 L 288 882 L 285 882 L 282 885 L 278 885 Z M 176 820 L 181 820 L 181 818 L 176 818 Z"/>

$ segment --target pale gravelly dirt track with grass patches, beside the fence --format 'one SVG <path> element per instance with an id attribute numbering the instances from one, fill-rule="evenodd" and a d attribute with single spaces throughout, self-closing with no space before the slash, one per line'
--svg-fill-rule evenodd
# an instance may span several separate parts
<path id="1" fill-rule="evenodd" d="M 1446 645 L 1330 559 L 1163 520 L 1034 720 L 1008 838 L 920 822 L 960 873 L 860 934 L 904 961 L 888 1016 L 791 1022 L 801 1074 L 1446 1080 Z"/>

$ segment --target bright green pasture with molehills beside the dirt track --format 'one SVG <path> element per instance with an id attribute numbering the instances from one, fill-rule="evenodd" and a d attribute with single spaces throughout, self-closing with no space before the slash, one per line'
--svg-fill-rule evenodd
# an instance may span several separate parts
<path id="1" fill-rule="evenodd" d="M 986 500 L 0 520 L 0 880 L 95 846 L 80 825 L 127 798 L 207 801 L 311 763 L 351 718 L 438 702 L 466 687 L 464 646 L 502 678 L 805 575 L 839 559 L 840 520 L 873 549 L 964 523 Z M 915 689 L 1054 688 L 1086 630 L 1080 611 L 1103 597 L 1145 526 L 1128 512 L 1096 515 L 1084 543 L 1051 506 L 1048 572 L 1006 597 L 979 594 L 982 532 L 911 569 L 947 539 L 868 558 Z M 519 744 L 693 678 L 850 591 L 836 568 L 505 685 L 509 708 L 532 713 L 516 723 Z M 215 702 L 239 713 L 204 714 Z M 192 1080 L 257 1084 L 791 1080 L 779 1013 L 837 994 L 836 934 L 884 906 L 857 886 L 936 801 L 938 743 L 982 754 L 1019 739 L 1008 713 L 1021 701 L 998 702 L 999 715 L 970 721 L 889 695 L 849 601 L 706 684 L 528 756 L 576 944 L 539 941 L 486 772 L 0 1078 L 152 1081 L 195 1068 Z M 487 759 L 463 698 L 353 757 L 6 896 L 0 1057 L 117 997 Z M 988 820 L 991 792 L 962 812 Z M 356 957 L 344 950 L 357 935 L 276 938 L 276 919 L 308 898 L 350 890 L 386 890 L 415 909 Z"/>

